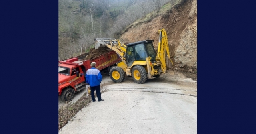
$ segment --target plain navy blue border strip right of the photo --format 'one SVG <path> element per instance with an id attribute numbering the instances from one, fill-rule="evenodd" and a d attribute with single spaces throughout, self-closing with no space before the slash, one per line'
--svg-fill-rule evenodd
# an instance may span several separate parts
<path id="1" fill-rule="evenodd" d="M 254 10 L 198 1 L 198 134 L 255 133 Z"/>

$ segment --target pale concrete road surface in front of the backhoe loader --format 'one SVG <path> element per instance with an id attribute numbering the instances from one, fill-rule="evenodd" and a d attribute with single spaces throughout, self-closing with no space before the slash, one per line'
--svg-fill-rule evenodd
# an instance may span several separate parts
<path id="1" fill-rule="evenodd" d="M 197 84 L 178 75 L 144 84 L 104 78 L 105 101 L 91 102 L 59 134 L 196 134 Z"/>

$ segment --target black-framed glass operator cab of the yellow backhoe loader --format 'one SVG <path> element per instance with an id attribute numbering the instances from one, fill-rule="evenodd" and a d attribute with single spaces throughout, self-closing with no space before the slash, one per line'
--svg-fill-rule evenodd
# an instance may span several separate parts
<path id="1" fill-rule="evenodd" d="M 154 40 L 144 40 L 127 44 L 128 67 L 134 61 L 146 61 L 146 57 L 151 57 L 150 61 L 156 61 L 156 51 L 153 46 Z"/>

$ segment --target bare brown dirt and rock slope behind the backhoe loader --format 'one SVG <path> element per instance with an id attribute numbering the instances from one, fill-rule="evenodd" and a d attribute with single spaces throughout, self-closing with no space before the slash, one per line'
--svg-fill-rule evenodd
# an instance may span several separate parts
<path id="1" fill-rule="evenodd" d="M 136 42 L 154 39 L 157 49 L 158 30 L 164 28 L 167 32 L 170 54 L 174 66 L 168 61 L 168 68 L 182 72 L 197 72 L 197 0 L 182 0 L 164 14 L 151 21 L 131 24 L 122 33 L 122 42 Z"/>

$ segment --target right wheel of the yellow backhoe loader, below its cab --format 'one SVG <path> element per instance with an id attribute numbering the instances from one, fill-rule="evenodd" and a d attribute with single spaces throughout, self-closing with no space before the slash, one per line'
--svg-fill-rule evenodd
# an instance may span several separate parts
<path id="1" fill-rule="evenodd" d="M 132 67 L 132 79 L 139 84 L 145 83 L 148 79 L 146 69 L 141 65 Z"/>

